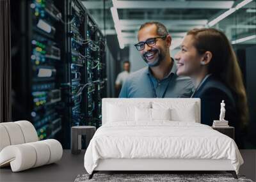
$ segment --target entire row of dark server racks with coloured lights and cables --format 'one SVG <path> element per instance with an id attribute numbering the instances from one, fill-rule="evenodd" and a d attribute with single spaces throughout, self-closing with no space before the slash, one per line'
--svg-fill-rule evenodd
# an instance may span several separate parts
<path id="1" fill-rule="evenodd" d="M 31 121 L 39 139 L 58 139 L 68 149 L 72 126 L 101 125 L 104 36 L 79 0 L 22 0 L 20 7 L 13 120 Z"/>

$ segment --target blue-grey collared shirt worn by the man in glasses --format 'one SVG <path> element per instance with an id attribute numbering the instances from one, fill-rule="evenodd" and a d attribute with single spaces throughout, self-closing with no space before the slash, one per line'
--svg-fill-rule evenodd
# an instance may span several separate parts
<path id="1" fill-rule="evenodd" d="M 157 98 L 163 97 L 165 89 L 164 98 L 189 98 L 193 93 L 193 83 L 189 77 L 178 76 L 176 72 L 177 66 L 174 63 L 163 80 L 157 80 L 148 66 L 131 73 L 122 86 L 119 98 L 154 98 L 154 89 Z"/>

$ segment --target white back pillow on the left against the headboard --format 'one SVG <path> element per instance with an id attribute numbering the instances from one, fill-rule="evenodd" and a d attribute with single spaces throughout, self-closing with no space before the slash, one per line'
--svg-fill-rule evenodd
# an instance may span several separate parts
<path id="1" fill-rule="evenodd" d="M 107 122 L 135 121 L 135 107 L 148 109 L 151 103 L 122 103 L 113 102 L 107 105 Z"/>

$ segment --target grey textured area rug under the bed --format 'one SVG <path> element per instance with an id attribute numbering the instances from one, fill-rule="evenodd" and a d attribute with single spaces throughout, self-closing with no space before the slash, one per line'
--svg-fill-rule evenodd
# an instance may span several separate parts
<path id="1" fill-rule="evenodd" d="M 119 182 L 119 181 L 136 181 L 136 182 L 187 182 L 187 181 L 207 181 L 207 182 L 229 182 L 243 181 L 253 182 L 244 176 L 238 176 L 234 179 L 232 174 L 94 174 L 92 179 L 88 179 L 89 174 L 78 175 L 74 182 Z"/>

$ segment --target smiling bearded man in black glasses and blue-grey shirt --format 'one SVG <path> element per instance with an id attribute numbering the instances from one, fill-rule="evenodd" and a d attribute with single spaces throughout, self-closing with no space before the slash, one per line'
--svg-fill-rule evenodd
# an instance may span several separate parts
<path id="1" fill-rule="evenodd" d="M 146 22 L 138 31 L 136 49 L 147 63 L 131 73 L 122 86 L 120 98 L 189 97 L 193 83 L 189 77 L 178 77 L 170 55 L 172 38 L 159 22 Z"/>

